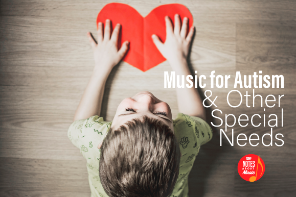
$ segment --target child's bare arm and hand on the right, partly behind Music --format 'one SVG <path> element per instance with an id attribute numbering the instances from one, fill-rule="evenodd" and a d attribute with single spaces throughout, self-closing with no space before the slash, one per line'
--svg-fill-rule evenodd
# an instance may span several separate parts
<path id="1" fill-rule="evenodd" d="M 176 75 L 184 75 L 185 77 L 191 75 L 187 58 L 194 27 L 190 28 L 187 35 L 188 18 L 184 18 L 181 27 L 180 17 L 176 14 L 174 28 L 168 16 L 166 16 L 165 20 L 167 32 L 165 43 L 162 43 L 156 35 L 152 35 L 153 42 L 162 55 L 169 61 Z M 194 80 L 191 81 L 194 84 Z M 194 86 L 192 88 L 176 88 L 176 91 L 179 112 L 206 120 L 206 110 Z"/>

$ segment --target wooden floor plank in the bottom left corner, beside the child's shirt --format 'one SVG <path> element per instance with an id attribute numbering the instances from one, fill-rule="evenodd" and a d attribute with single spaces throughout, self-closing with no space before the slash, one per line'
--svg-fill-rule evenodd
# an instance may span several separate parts
<path id="1" fill-rule="evenodd" d="M 86 161 L 0 158 L 1 196 L 89 196 Z"/>

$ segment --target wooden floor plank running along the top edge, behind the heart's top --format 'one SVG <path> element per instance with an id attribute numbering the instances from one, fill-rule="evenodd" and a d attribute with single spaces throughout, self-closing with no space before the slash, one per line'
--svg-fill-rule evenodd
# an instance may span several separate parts
<path id="1" fill-rule="evenodd" d="M 86 3 L 77 1 L 55 2 L 48 4 L 47 1 L 2 1 L 0 10 L 1 15 L 6 16 L 38 16 L 38 17 L 76 17 L 76 18 L 95 18 L 108 3 L 112 1 L 89 1 Z M 146 16 L 153 8 L 162 4 L 171 4 L 166 1 L 117 1 L 125 3 L 136 10 L 142 16 Z M 292 0 L 288 1 L 232 1 L 223 2 L 211 1 L 186 1 L 179 0 L 174 3 L 187 6 L 197 20 L 203 21 L 244 21 L 244 20 L 266 20 L 266 21 L 289 21 L 293 22 L 296 18 L 296 6 Z M 30 5 L 24 10 L 24 6 Z M 81 14 L 77 14 L 80 11 Z"/>

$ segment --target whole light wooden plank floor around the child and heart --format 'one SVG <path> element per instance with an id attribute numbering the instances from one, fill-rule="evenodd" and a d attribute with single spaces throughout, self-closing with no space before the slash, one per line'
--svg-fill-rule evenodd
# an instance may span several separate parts
<path id="1" fill-rule="evenodd" d="M 1 0 L 0 196 L 90 196 L 86 162 L 66 132 L 94 66 L 86 32 L 95 32 L 96 16 L 110 2 Z M 214 130 L 189 176 L 190 196 L 296 196 L 296 1 L 117 2 L 143 16 L 162 4 L 187 6 L 196 27 L 193 69 L 206 76 L 212 70 L 231 75 L 229 88 L 208 85 L 201 90 L 218 96 L 216 104 L 223 112 L 219 116 L 279 115 L 279 127 L 273 131 L 284 135 L 281 147 L 265 147 L 261 141 L 256 147 L 236 143 L 239 133 L 262 137 L 270 133 L 269 127 L 236 125 L 234 146 L 224 136 L 220 146 L 219 128 Z M 146 72 L 121 63 L 107 81 L 103 117 L 111 120 L 120 101 L 141 90 L 168 102 L 175 116 L 175 90 L 163 88 L 163 73 L 170 70 L 167 62 Z M 259 70 L 284 76 L 284 88 L 255 89 L 263 98 L 285 94 L 281 107 L 263 106 L 264 112 L 259 102 L 247 108 L 245 100 L 239 108 L 229 107 L 226 95 L 233 89 L 236 71 L 252 75 Z M 238 90 L 252 95 L 250 88 Z M 227 135 L 231 137 L 231 130 Z M 254 183 L 237 172 L 238 161 L 246 154 L 260 155 L 265 162 L 264 176 Z"/>

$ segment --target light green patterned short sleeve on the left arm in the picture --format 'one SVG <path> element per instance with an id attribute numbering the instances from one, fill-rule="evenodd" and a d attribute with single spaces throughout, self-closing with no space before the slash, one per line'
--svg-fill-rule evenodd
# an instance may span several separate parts
<path id="1" fill-rule="evenodd" d="M 104 121 L 98 115 L 76 120 L 68 129 L 68 137 L 86 157 L 89 151 L 93 150 L 93 147 L 95 151 L 98 151 L 97 146 L 106 136 L 110 125 L 111 122 Z"/>

